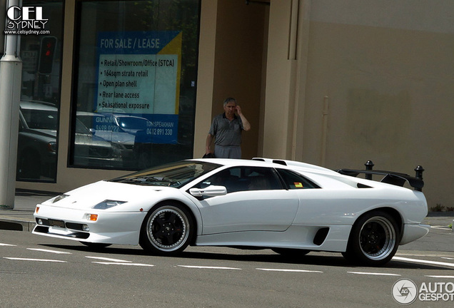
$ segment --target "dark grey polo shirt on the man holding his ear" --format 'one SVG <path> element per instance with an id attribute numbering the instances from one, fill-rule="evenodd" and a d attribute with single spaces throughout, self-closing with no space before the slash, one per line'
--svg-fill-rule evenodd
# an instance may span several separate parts
<path id="1" fill-rule="evenodd" d="M 243 131 L 243 122 L 240 117 L 235 116 L 233 120 L 226 118 L 226 113 L 222 113 L 213 118 L 209 134 L 213 135 L 216 140 L 214 144 L 224 147 L 240 146 L 241 131 Z"/>

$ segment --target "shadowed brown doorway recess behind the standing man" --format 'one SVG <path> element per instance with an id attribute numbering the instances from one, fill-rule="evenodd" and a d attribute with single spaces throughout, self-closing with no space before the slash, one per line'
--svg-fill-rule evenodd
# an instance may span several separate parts
<path id="1" fill-rule="evenodd" d="M 223 113 L 226 98 L 236 98 L 252 126 L 251 131 L 242 135 L 243 158 L 253 158 L 258 152 L 264 91 L 262 59 L 263 49 L 266 48 L 263 41 L 268 23 L 266 11 L 268 6 L 246 5 L 243 0 L 218 0 L 211 116 Z M 205 128 L 206 134 L 208 128 L 209 125 Z M 203 146 L 199 152 L 204 149 Z"/>

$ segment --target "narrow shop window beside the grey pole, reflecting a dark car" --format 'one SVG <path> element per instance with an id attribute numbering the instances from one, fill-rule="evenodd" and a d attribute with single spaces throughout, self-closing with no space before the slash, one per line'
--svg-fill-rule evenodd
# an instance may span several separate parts
<path id="1" fill-rule="evenodd" d="M 59 133 L 61 41 L 64 1 L 22 1 L 29 18 L 42 12 L 42 22 L 21 25 L 21 103 L 16 180 L 56 182 Z"/>

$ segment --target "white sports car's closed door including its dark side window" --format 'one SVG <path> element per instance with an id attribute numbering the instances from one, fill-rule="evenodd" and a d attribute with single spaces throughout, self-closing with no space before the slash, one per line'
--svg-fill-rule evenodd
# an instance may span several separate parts
<path id="1" fill-rule="evenodd" d="M 221 185 L 227 194 L 200 200 L 203 235 L 286 230 L 298 211 L 298 195 L 286 190 L 273 168 L 234 167 L 196 185 Z"/>

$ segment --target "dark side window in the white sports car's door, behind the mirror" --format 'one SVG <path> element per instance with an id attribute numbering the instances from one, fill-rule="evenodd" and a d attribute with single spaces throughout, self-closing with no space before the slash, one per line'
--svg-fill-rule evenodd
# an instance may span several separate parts
<path id="1" fill-rule="evenodd" d="M 234 167 L 221 170 L 216 175 L 196 185 L 196 187 L 205 188 L 209 185 L 225 186 L 227 193 L 246 190 L 283 189 L 273 169 L 258 167 Z"/>

